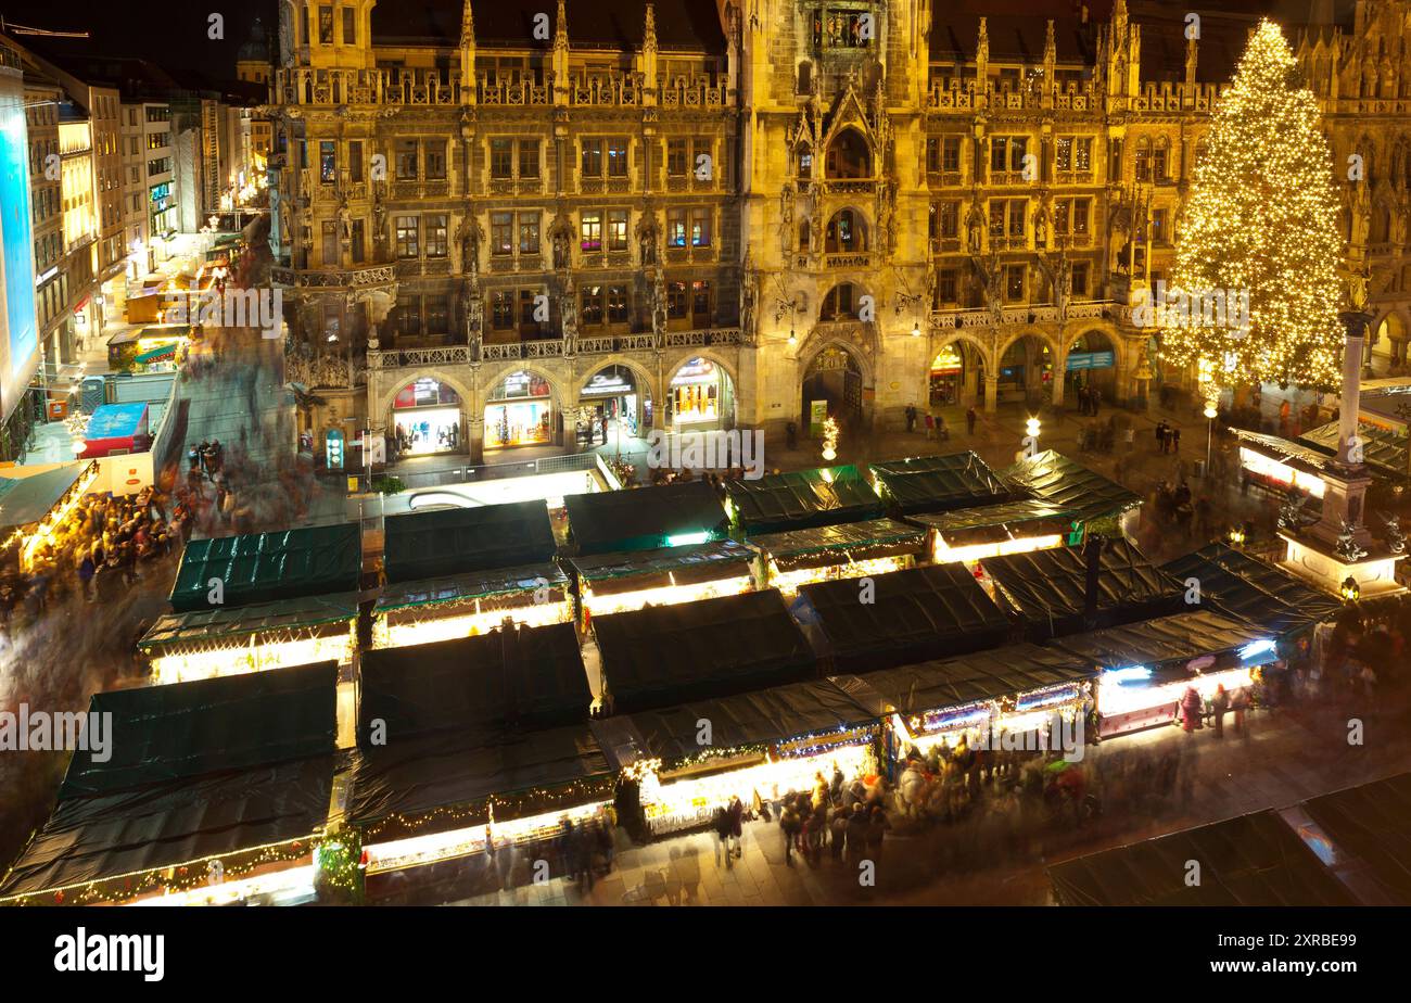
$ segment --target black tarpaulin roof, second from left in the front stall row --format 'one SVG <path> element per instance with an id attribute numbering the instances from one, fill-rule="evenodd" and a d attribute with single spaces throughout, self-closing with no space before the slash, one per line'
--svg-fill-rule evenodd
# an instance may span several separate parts
<path id="1" fill-rule="evenodd" d="M 593 694 L 571 624 L 364 652 L 358 743 L 374 721 L 391 736 L 516 722 L 587 719 Z"/>

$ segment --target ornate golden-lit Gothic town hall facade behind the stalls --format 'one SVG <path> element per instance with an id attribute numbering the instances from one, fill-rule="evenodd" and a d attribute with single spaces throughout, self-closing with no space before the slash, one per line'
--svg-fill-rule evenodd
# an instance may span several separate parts
<path id="1" fill-rule="evenodd" d="M 309 430 L 478 461 L 604 415 L 806 433 L 1188 384 L 1134 308 L 1264 11 L 1044 6 L 284 4 L 275 281 L 334 402 Z M 1285 24 L 1364 165 L 1338 182 L 1380 368 L 1408 334 L 1408 14 Z"/>

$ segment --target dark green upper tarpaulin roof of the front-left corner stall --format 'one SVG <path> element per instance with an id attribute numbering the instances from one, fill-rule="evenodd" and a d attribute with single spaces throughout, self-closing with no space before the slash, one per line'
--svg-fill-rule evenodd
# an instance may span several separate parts
<path id="1" fill-rule="evenodd" d="M 336 662 L 93 694 L 111 714 L 107 760 L 73 753 L 59 798 L 332 753 Z"/>

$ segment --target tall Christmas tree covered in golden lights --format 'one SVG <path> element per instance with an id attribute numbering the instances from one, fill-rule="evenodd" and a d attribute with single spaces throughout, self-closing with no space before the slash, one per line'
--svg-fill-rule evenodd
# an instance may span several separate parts
<path id="1" fill-rule="evenodd" d="M 1278 25 L 1261 21 L 1250 38 L 1206 141 L 1177 240 L 1173 306 L 1157 308 L 1163 355 L 1198 364 L 1209 389 L 1256 379 L 1336 385 L 1342 238 L 1332 154 Z M 1228 309 L 1209 309 L 1212 300 Z"/>

